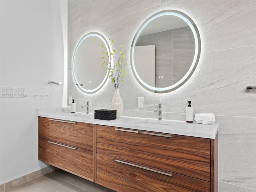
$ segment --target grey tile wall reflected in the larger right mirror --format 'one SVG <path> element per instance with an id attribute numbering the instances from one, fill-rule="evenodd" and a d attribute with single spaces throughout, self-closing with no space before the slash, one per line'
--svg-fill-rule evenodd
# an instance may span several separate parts
<path id="1" fill-rule="evenodd" d="M 190 27 L 182 26 L 143 35 L 136 42 L 136 46 L 152 44 L 156 48 L 154 86 L 164 88 L 175 84 L 188 72 L 194 57 L 195 40 Z M 137 54 L 138 52 L 135 51 L 134 60 L 136 62 Z M 144 78 L 142 79 L 144 80 Z"/>

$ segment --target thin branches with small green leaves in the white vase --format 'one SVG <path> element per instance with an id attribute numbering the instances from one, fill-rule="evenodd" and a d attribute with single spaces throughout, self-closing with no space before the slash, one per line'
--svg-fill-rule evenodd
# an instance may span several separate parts
<path id="1" fill-rule="evenodd" d="M 123 82 L 123 77 L 126 74 L 124 71 L 125 64 L 124 62 L 124 53 L 127 51 L 125 50 L 122 52 L 122 45 L 120 45 L 120 50 L 116 50 L 113 48 L 114 46 L 114 41 L 110 40 L 110 48 L 111 48 L 111 53 L 110 55 L 108 54 L 107 48 L 102 45 L 102 48 L 105 49 L 105 51 L 102 51 L 102 59 L 104 60 L 103 63 L 101 64 L 102 67 L 106 69 L 106 75 L 108 75 L 108 78 L 111 79 L 111 82 L 113 83 L 115 88 L 119 88 L 119 85 L 121 82 Z M 110 58 L 110 59 L 109 59 Z M 111 59 L 113 58 L 113 59 Z M 112 61 L 112 62 L 111 62 Z"/>

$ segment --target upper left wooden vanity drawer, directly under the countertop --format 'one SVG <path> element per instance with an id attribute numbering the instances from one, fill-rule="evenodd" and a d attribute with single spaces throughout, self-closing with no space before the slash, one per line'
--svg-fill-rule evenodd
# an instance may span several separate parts
<path id="1" fill-rule="evenodd" d="M 93 124 L 38 117 L 39 137 L 93 150 Z M 61 120 L 63 121 L 63 120 Z"/>

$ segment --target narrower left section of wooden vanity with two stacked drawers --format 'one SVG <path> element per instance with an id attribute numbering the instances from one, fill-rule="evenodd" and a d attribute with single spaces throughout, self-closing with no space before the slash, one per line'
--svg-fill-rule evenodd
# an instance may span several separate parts
<path id="1" fill-rule="evenodd" d="M 38 119 L 38 159 L 93 181 L 93 124 Z"/>

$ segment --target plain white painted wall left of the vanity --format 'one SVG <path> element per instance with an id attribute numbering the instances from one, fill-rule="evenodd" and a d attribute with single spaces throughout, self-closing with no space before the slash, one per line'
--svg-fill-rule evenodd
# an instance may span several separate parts
<path id="1" fill-rule="evenodd" d="M 1 0 L 0 86 L 42 98 L 0 98 L 0 183 L 44 168 L 37 108 L 66 103 L 67 1 Z M 60 81 L 64 84 L 48 84 Z"/>

